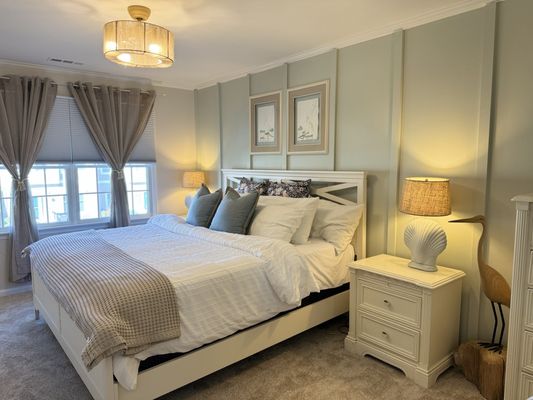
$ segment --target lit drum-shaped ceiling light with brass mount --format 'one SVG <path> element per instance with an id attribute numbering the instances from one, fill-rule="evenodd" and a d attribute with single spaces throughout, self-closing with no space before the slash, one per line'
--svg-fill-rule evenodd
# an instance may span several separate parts
<path id="1" fill-rule="evenodd" d="M 129 6 L 135 21 L 111 21 L 104 25 L 104 56 L 109 61 L 139 68 L 167 68 L 174 63 L 174 35 L 145 22 L 150 9 Z"/>

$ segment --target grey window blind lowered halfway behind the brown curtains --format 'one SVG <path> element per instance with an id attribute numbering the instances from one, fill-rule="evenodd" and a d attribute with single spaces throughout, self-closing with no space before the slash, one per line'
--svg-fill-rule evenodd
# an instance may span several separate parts
<path id="1" fill-rule="evenodd" d="M 128 161 L 155 161 L 155 113 Z M 72 97 L 57 96 L 50 114 L 37 161 L 102 162 L 80 110 Z"/>

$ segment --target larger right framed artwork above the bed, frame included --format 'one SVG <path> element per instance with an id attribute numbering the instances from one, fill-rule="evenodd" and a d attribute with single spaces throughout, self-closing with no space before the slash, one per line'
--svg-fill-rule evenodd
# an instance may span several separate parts
<path id="1" fill-rule="evenodd" d="M 328 152 L 329 81 L 289 89 L 287 154 Z"/>

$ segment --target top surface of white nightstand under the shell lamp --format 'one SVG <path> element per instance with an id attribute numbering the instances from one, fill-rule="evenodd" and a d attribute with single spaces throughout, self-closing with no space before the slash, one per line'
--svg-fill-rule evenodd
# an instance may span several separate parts
<path id="1" fill-rule="evenodd" d="M 465 276 L 463 271 L 438 266 L 435 272 L 426 272 L 411 268 L 406 258 L 380 254 L 363 258 L 350 264 L 350 268 L 375 273 L 414 285 L 435 289 Z"/>

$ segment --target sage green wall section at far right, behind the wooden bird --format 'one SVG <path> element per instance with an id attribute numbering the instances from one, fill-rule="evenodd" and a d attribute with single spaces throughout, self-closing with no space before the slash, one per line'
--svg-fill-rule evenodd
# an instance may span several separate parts
<path id="1" fill-rule="evenodd" d="M 488 181 L 488 263 L 510 282 L 515 226 L 510 199 L 533 192 L 533 1 L 498 4 L 493 132 Z M 481 323 L 492 315 L 482 298 Z"/>

